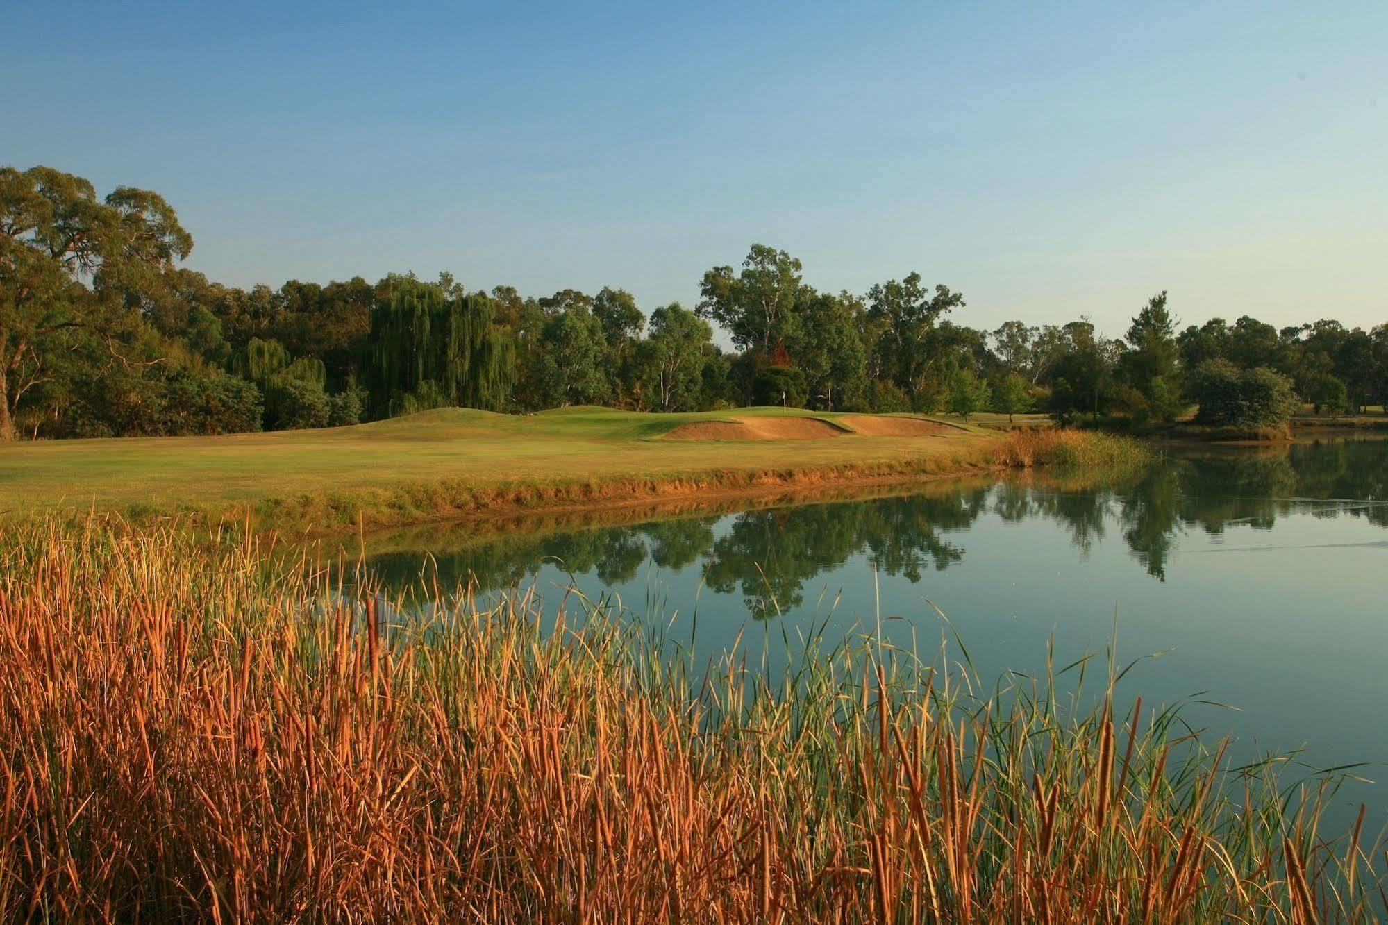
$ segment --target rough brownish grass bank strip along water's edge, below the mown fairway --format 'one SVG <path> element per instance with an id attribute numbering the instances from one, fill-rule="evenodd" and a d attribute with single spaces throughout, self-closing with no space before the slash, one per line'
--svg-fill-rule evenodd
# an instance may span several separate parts
<path id="1" fill-rule="evenodd" d="M 640 458 L 651 451 L 645 442 L 632 442 L 620 461 L 625 465 L 587 476 L 557 478 L 566 468 L 562 458 L 545 458 L 529 474 L 512 467 L 516 476 L 504 481 L 477 471 L 477 462 L 469 462 L 473 471 L 466 474 L 434 478 L 400 474 L 376 485 L 357 481 L 337 489 L 278 493 L 266 485 L 262 497 L 186 500 L 151 492 L 124 501 L 17 507 L 3 517 L 12 522 L 28 517 L 74 518 L 107 512 L 135 528 L 182 521 L 196 529 L 244 529 L 283 539 L 312 539 L 444 522 L 465 525 L 532 515 L 804 497 L 1048 464 L 1124 465 L 1149 454 L 1138 440 L 1098 432 L 960 428 L 954 433 L 956 436 L 949 438 L 847 438 L 843 443 L 829 442 L 837 444 L 833 454 L 809 446 L 820 443 L 818 440 L 759 443 L 758 456 L 745 460 L 738 456 L 745 449 L 733 443 L 690 443 L 687 456 L 650 456 L 651 468 L 632 465 L 633 454 Z M 841 451 L 849 446 L 856 451 Z M 507 471 L 507 461 L 498 461 L 493 471 Z M 330 485 L 332 479 L 319 483 Z"/>

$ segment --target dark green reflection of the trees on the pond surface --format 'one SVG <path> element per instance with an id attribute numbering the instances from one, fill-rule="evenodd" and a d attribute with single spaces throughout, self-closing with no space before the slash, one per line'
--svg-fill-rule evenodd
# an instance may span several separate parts
<path id="1" fill-rule="evenodd" d="M 1098 483 L 1097 483 L 1098 482 Z M 1044 518 L 1066 528 L 1083 553 L 1116 531 L 1135 560 L 1165 581 L 1177 536 L 1187 531 L 1270 529 L 1280 515 L 1362 517 L 1388 528 L 1388 442 L 1323 442 L 1277 450 L 1180 453 L 1124 479 L 1005 479 L 876 497 L 680 517 L 638 525 L 523 528 L 477 538 L 472 526 L 414 533 L 397 551 L 368 560 L 387 586 L 437 576 L 440 588 L 508 588 L 545 564 L 604 585 L 643 565 L 698 567 L 711 590 L 741 593 L 756 617 L 805 601 L 816 575 L 854 556 L 911 582 L 967 554 L 963 531 L 979 518 Z M 389 540 L 387 540 L 389 542 Z M 371 549 L 379 544 L 368 543 Z M 425 567 L 426 556 L 430 560 Z"/>

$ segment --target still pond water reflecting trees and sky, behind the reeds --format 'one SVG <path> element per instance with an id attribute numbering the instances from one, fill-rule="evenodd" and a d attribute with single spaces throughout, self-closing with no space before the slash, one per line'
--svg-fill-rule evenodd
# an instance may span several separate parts
<path id="1" fill-rule="evenodd" d="M 615 596 L 700 658 L 741 635 L 752 664 L 765 647 L 775 665 L 812 625 L 872 632 L 879 612 L 895 643 L 934 650 L 952 636 L 933 604 L 991 682 L 1042 672 L 1048 640 L 1066 664 L 1116 632 L 1120 661 L 1162 653 L 1124 679 L 1126 703 L 1191 700 L 1192 725 L 1234 733 L 1245 757 L 1306 744 L 1307 768 L 1366 762 L 1377 783 L 1346 788 L 1332 817 L 1367 800 L 1388 821 L 1388 440 L 1178 449 L 1119 479 L 466 525 L 368 550 L 396 588 L 437 574 L 483 596 L 533 585 L 550 607 L 569 588 Z"/>

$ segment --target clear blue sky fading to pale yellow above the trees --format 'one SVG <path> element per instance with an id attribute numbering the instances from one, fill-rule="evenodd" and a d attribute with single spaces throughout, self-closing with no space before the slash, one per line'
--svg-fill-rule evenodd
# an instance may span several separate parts
<path id="1" fill-rule="evenodd" d="M 1378 0 L 3 6 L 0 162 L 158 190 L 229 283 L 651 310 L 763 242 L 979 326 L 1388 322 Z"/>

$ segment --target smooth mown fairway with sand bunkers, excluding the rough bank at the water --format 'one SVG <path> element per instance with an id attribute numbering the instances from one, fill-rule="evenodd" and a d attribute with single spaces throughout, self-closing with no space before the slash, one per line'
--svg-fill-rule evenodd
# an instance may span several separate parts
<path id="1" fill-rule="evenodd" d="M 672 431 L 682 439 L 668 439 Z M 444 408 L 316 431 L 10 444 L 0 447 L 0 511 L 215 508 L 434 482 L 544 489 L 719 472 L 906 468 L 927 458 L 977 461 L 997 440 L 979 428 L 908 415 L 570 407 L 518 417 Z"/>

